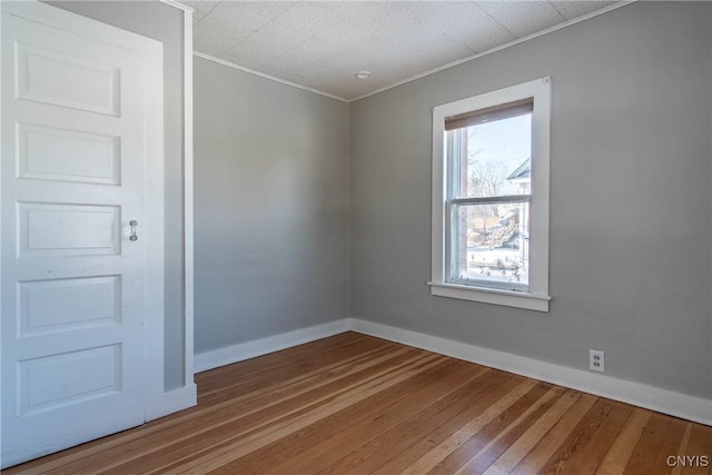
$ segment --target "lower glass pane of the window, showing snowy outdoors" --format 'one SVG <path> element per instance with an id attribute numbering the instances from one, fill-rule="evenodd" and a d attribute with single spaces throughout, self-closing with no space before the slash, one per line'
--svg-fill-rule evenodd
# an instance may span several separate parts
<path id="1" fill-rule="evenodd" d="M 527 289 L 527 202 L 457 205 L 451 226 L 451 283 Z"/>

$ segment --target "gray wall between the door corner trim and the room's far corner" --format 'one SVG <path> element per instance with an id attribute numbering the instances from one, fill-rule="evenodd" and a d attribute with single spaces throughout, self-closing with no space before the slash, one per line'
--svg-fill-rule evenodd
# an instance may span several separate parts
<path id="1" fill-rule="evenodd" d="M 348 105 L 195 60 L 196 353 L 348 316 Z"/>

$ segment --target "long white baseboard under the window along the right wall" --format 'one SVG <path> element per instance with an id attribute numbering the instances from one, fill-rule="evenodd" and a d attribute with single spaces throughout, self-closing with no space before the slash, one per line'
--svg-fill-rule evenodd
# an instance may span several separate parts
<path id="1" fill-rule="evenodd" d="M 358 318 L 349 318 L 349 328 L 357 333 L 427 349 L 466 362 L 477 363 L 479 365 L 712 426 L 711 399 L 404 330 Z"/>

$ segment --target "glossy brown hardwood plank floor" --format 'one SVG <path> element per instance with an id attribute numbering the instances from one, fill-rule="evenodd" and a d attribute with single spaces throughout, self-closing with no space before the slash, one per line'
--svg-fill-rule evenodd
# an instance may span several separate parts
<path id="1" fill-rule="evenodd" d="M 355 333 L 196 382 L 195 408 L 3 473 L 711 473 L 712 427 Z"/>

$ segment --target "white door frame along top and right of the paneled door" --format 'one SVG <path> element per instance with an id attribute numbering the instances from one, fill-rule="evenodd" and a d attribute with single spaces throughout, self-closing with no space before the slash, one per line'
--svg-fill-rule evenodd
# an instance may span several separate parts
<path id="1" fill-rule="evenodd" d="M 145 369 L 142 377 L 145 383 L 144 418 L 150 420 L 158 417 L 152 414 L 151 408 L 161 406 L 166 393 L 164 387 L 164 44 L 160 41 L 38 1 L 2 2 L 1 8 L 3 14 L 21 17 L 52 28 L 71 29 L 72 32 L 82 37 L 95 38 L 99 41 L 106 41 L 103 38 L 108 36 L 111 38 L 111 43 L 139 51 L 144 56 L 144 85 L 147 93 L 145 93 L 144 125 L 146 224 L 141 225 L 146 246 Z M 160 93 L 151 93 L 150 91 L 160 91 Z M 1 117 L 0 120 L 2 120 Z M 0 140 L 2 140 L 1 137 Z M 1 182 L 2 180 L 0 180 L 0 187 Z M 0 196 L 2 196 L 1 188 Z M 3 263 L 4 256 L 0 254 L 0 269 Z M 2 369 L 6 368 L 2 367 Z M 176 409 L 174 408 L 174 410 Z M 165 414 L 167 413 L 161 415 Z"/>

